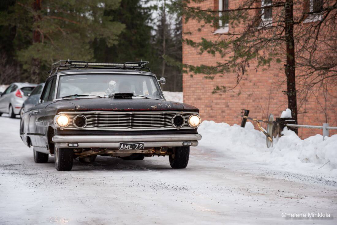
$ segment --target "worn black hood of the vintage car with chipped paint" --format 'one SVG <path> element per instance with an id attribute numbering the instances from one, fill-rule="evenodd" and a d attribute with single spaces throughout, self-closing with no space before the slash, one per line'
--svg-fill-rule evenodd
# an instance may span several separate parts
<path id="1" fill-rule="evenodd" d="M 59 100 L 58 105 L 61 106 L 62 102 L 72 103 L 76 110 L 102 110 L 102 111 L 155 111 L 155 110 L 177 110 L 177 111 L 195 111 L 199 110 L 194 106 L 171 102 L 158 99 L 113 99 L 113 98 L 77 98 Z M 65 106 L 68 107 L 67 104 Z M 59 109 L 62 109 L 58 107 Z M 63 109 L 70 109 L 64 107 Z M 70 110 L 73 110 L 71 107 Z"/>

